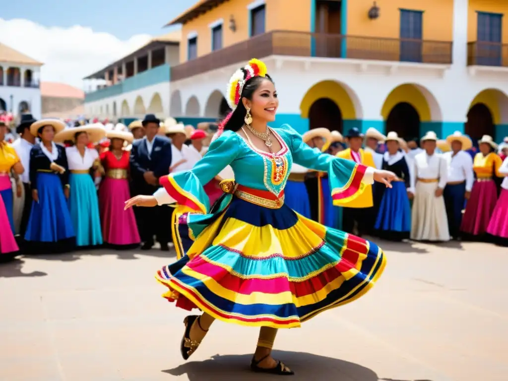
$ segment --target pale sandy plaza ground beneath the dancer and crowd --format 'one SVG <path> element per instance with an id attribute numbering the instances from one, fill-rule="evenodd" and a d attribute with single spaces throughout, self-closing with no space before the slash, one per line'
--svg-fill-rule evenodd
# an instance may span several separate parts
<path id="1" fill-rule="evenodd" d="M 388 264 L 372 291 L 279 331 L 275 356 L 295 370 L 289 379 L 508 379 L 508 248 L 379 245 Z M 182 360 L 186 311 L 153 278 L 173 260 L 101 249 L 0 264 L 0 381 L 279 379 L 248 370 L 256 328 L 215 322 Z"/>

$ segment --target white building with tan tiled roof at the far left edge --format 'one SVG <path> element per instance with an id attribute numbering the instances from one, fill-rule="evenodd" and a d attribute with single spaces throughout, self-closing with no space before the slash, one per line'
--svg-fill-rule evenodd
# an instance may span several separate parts
<path id="1" fill-rule="evenodd" d="M 41 117 L 40 69 L 43 64 L 0 43 L 0 112 Z"/>

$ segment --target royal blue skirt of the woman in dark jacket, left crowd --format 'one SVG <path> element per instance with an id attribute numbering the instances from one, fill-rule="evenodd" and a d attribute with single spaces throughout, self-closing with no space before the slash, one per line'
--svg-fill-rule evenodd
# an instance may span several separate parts
<path id="1" fill-rule="evenodd" d="M 37 192 L 39 202 L 32 202 L 25 240 L 57 242 L 73 238 L 71 214 L 60 177 L 54 173 L 39 172 Z"/>

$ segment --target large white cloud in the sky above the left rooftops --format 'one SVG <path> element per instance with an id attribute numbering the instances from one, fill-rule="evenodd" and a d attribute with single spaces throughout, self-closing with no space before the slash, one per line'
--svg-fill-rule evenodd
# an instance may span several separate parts
<path id="1" fill-rule="evenodd" d="M 0 18 L 0 42 L 44 62 L 41 80 L 83 88 L 82 78 L 131 53 L 150 40 L 136 35 L 119 40 L 80 25 L 46 27 L 29 20 Z"/>

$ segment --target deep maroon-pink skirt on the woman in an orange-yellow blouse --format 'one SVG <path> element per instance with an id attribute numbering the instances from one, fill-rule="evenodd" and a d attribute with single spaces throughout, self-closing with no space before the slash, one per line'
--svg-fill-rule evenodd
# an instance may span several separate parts
<path id="1" fill-rule="evenodd" d="M 460 230 L 475 236 L 487 233 L 496 201 L 497 190 L 494 180 L 475 181 L 462 217 Z"/>

